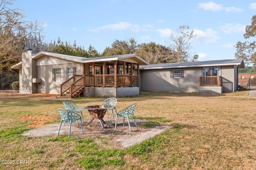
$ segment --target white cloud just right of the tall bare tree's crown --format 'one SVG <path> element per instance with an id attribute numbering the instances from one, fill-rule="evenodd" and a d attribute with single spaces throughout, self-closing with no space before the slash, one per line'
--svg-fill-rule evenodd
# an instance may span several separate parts
<path id="1" fill-rule="evenodd" d="M 196 35 L 195 39 L 198 43 L 216 43 L 220 39 L 218 32 L 211 28 L 207 28 L 205 31 L 194 29 L 194 33 Z"/>

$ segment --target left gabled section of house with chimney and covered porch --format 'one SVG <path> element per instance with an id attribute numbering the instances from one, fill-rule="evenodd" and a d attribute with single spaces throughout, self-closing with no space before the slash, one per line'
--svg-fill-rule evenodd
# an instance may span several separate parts
<path id="1" fill-rule="evenodd" d="M 135 54 L 84 58 L 28 51 L 19 69 L 20 93 L 71 97 L 139 95 L 139 66 L 148 64 Z"/>

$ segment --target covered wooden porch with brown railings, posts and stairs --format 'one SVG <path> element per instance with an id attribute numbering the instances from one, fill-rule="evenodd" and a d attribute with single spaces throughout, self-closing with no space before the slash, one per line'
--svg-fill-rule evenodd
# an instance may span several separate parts
<path id="1" fill-rule="evenodd" d="M 109 88 L 119 88 L 120 91 L 121 88 L 130 87 L 130 89 L 139 91 L 139 63 L 134 61 L 114 60 L 83 63 L 83 73 L 83 75 L 75 74 L 67 81 L 63 82 L 60 86 L 60 95 L 69 92 L 71 97 L 76 97 L 83 92 L 84 96 L 92 96 L 90 92 L 86 93 L 86 90 L 95 91 L 100 89 L 100 91 L 106 91 L 106 89 L 101 88 L 108 88 L 108 91 L 116 90 Z M 92 90 L 92 88 L 97 89 Z M 115 93 L 116 92 L 112 92 L 111 94 Z M 95 92 L 93 94 L 95 94 Z"/>

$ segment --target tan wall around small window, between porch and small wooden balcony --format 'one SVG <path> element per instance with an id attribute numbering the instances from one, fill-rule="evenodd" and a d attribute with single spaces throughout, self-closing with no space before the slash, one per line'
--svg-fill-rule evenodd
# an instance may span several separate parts
<path id="1" fill-rule="evenodd" d="M 142 91 L 183 91 L 198 92 L 199 76 L 202 68 L 184 70 L 184 78 L 171 78 L 171 69 L 140 70 Z"/>

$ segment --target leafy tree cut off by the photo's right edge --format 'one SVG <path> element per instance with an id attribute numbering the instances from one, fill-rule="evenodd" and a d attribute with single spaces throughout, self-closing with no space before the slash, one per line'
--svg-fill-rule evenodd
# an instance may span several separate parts
<path id="1" fill-rule="evenodd" d="M 256 15 L 252 16 L 252 22 L 246 26 L 244 38 L 250 39 L 256 37 Z M 246 64 L 256 65 L 256 41 L 238 41 L 236 43 L 236 58 L 244 59 Z"/>

